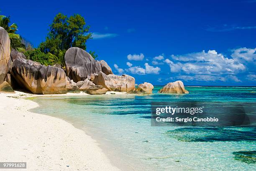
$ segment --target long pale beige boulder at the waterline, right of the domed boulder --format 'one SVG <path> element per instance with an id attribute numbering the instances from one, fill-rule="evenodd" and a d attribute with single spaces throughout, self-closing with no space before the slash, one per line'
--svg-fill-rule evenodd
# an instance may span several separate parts
<path id="1" fill-rule="evenodd" d="M 129 75 L 106 75 L 100 72 L 98 75 L 95 75 L 93 83 L 102 85 L 109 91 L 128 92 L 135 88 L 135 79 Z"/>

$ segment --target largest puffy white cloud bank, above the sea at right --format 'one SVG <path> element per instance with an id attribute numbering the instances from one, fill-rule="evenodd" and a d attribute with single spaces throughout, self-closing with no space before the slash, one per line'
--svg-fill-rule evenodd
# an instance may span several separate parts
<path id="1" fill-rule="evenodd" d="M 170 66 L 173 73 L 192 74 L 233 74 L 246 70 L 245 65 L 233 58 L 225 58 L 215 50 L 207 53 L 203 50 L 198 53 L 188 53 L 185 55 L 171 55 L 172 60 L 164 60 Z"/>

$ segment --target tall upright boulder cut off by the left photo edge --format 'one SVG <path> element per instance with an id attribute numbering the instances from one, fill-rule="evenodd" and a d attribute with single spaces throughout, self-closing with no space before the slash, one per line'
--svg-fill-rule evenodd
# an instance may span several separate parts
<path id="1" fill-rule="evenodd" d="M 10 38 L 7 31 L 0 27 L 0 84 L 5 81 L 10 63 Z"/>

